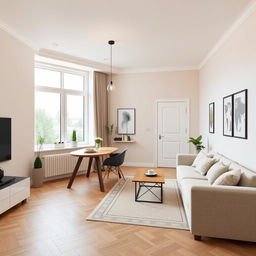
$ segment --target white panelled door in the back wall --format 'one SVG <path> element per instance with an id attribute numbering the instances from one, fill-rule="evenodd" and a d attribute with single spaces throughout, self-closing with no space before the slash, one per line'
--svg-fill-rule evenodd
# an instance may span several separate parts
<path id="1" fill-rule="evenodd" d="M 158 102 L 157 115 L 157 164 L 159 167 L 175 167 L 176 154 L 189 153 L 188 102 Z"/>

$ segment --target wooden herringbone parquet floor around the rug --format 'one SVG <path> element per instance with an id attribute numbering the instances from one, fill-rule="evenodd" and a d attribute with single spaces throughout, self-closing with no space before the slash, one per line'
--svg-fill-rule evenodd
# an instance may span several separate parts
<path id="1" fill-rule="evenodd" d="M 125 175 L 137 169 L 123 167 Z M 164 169 L 175 178 L 174 169 Z M 204 238 L 194 241 L 189 231 L 86 221 L 87 215 L 116 183 L 111 175 L 106 192 L 99 191 L 95 173 L 31 189 L 23 205 L 0 217 L 0 256 L 253 256 L 256 243 Z M 255 231 L 256 232 L 256 231 Z"/>

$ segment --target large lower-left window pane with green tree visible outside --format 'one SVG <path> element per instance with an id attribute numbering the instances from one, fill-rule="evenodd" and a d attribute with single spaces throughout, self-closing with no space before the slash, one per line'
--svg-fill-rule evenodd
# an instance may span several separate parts
<path id="1" fill-rule="evenodd" d="M 50 92 L 36 92 L 36 143 L 41 136 L 45 144 L 60 141 L 60 94 Z"/>

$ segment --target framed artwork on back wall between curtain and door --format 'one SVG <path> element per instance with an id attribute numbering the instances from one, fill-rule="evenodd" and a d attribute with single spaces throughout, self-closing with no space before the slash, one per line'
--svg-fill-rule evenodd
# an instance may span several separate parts
<path id="1" fill-rule="evenodd" d="M 135 108 L 117 109 L 117 133 L 135 134 Z"/>

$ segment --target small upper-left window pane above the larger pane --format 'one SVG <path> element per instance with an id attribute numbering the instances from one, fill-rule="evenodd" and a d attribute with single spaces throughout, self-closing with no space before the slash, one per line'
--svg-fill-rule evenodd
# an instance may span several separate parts
<path id="1" fill-rule="evenodd" d="M 35 68 L 35 85 L 60 88 L 60 72 Z"/>

